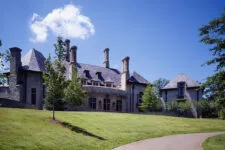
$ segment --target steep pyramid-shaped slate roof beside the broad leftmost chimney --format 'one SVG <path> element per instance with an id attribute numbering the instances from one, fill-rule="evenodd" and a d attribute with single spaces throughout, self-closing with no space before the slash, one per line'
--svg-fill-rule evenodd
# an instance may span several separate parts
<path id="1" fill-rule="evenodd" d="M 22 58 L 24 70 L 45 72 L 45 57 L 37 50 L 31 49 Z"/>

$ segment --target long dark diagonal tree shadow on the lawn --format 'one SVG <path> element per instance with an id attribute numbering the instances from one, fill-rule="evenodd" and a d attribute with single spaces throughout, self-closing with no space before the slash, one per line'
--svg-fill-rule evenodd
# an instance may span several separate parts
<path id="1" fill-rule="evenodd" d="M 77 133 L 82 133 L 83 135 L 91 136 L 91 137 L 97 138 L 99 140 L 105 140 L 101 136 L 95 135 L 95 134 L 93 134 L 91 132 L 86 131 L 85 129 L 82 129 L 82 128 L 78 127 L 78 126 L 74 126 L 74 125 L 72 125 L 72 124 L 70 124 L 68 122 L 61 122 L 61 125 L 66 127 L 66 128 L 68 128 L 68 129 L 70 129 L 71 131 L 74 131 L 74 132 L 77 132 Z"/>

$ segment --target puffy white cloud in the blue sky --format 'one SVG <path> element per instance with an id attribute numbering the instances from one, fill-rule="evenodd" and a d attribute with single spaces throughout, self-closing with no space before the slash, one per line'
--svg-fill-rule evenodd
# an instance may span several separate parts
<path id="1" fill-rule="evenodd" d="M 83 40 L 95 33 L 91 20 L 82 15 L 80 9 L 72 4 L 52 10 L 44 18 L 34 13 L 30 29 L 34 34 L 31 38 L 32 42 L 46 41 L 49 31 L 56 36 Z"/>

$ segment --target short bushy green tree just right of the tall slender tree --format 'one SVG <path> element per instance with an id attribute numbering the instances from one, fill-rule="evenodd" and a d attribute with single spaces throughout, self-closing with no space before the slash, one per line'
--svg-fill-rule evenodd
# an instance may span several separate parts
<path id="1" fill-rule="evenodd" d="M 65 100 L 67 104 L 73 106 L 80 106 L 84 103 L 86 92 L 82 89 L 81 82 L 78 78 L 77 69 L 73 66 L 72 79 L 69 81 L 68 86 L 65 88 Z"/>

